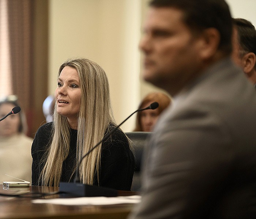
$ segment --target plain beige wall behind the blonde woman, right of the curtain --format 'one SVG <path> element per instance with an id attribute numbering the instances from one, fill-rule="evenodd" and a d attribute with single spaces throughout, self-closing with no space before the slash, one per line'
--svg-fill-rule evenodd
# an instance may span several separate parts
<path id="1" fill-rule="evenodd" d="M 136 110 L 155 87 L 140 78 L 138 43 L 148 0 L 49 0 L 49 94 L 59 66 L 86 57 L 108 74 L 117 123 Z M 227 0 L 234 17 L 256 24 L 255 0 Z M 131 131 L 133 115 L 121 128 Z"/>

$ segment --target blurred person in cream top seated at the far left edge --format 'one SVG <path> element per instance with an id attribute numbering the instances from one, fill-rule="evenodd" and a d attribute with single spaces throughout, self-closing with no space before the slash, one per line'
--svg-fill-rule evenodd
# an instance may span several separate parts
<path id="1" fill-rule="evenodd" d="M 17 106 L 16 100 L 6 97 L 0 101 L 0 118 Z M 26 122 L 23 112 L 7 116 L 0 122 L 0 184 L 3 181 L 31 182 L 31 145 L 33 138 L 25 135 Z"/>

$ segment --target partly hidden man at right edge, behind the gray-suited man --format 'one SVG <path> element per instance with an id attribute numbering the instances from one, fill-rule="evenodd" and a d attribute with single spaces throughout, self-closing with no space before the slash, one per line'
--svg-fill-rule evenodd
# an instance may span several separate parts
<path id="1" fill-rule="evenodd" d="M 251 22 L 234 18 L 233 53 L 234 62 L 256 85 L 256 30 Z"/>

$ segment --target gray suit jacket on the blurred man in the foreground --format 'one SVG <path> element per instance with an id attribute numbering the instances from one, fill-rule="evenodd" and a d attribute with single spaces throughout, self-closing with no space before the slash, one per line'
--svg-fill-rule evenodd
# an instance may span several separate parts
<path id="1" fill-rule="evenodd" d="M 158 120 L 130 218 L 256 218 L 256 95 L 231 60 L 207 69 Z"/>

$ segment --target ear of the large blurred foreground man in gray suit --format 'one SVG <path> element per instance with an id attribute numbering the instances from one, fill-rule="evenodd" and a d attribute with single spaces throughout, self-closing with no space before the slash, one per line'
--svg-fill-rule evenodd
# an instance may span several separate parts
<path id="1" fill-rule="evenodd" d="M 200 57 L 209 59 L 214 56 L 221 40 L 219 31 L 216 28 L 207 28 L 200 38 Z"/>

